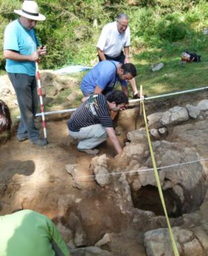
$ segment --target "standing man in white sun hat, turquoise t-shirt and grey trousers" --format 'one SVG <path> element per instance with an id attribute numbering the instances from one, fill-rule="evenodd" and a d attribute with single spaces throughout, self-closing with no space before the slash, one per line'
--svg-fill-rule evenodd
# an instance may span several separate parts
<path id="1" fill-rule="evenodd" d="M 36 65 L 39 55 L 46 54 L 46 47 L 40 47 L 34 27 L 37 21 L 46 18 L 39 13 L 34 1 L 24 1 L 22 10 L 15 10 L 20 18 L 10 23 L 5 30 L 4 57 L 6 70 L 15 89 L 21 113 L 17 139 L 29 139 L 37 146 L 44 146 L 34 118 L 38 107 Z"/>

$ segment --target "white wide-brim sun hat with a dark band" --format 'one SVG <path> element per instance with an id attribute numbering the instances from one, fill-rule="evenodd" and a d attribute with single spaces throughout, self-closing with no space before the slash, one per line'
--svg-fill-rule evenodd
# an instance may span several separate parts
<path id="1" fill-rule="evenodd" d="M 44 15 L 39 14 L 38 5 L 35 1 L 24 1 L 22 10 L 14 10 L 14 12 L 35 21 L 44 21 L 46 19 Z"/>

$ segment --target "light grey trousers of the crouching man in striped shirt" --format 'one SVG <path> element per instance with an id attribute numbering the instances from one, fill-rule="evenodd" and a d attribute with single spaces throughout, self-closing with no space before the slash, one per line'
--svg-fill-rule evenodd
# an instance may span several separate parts
<path id="1" fill-rule="evenodd" d="M 69 130 L 72 138 L 77 139 L 78 149 L 91 149 L 102 143 L 108 138 L 108 134 L 101 124 L 94 124 L 82 127 L 78 132 Z"/>

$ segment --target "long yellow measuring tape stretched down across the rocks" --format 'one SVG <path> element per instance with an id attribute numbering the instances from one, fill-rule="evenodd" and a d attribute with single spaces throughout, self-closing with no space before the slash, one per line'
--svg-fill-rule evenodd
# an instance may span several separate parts
<path id="1" fill-rule="evenodd" d="M 165 206 L 165 200 L 164 200 L 164 197 L 163 197 L 163 194 L 162 194 L 162 188 L 161 188 L 161 185 L 160 185 L 160 179 L 159 179 L 158 170 L 157 170 L 157 166 L 156 166 L 156 162 L 155 162 L 155 157 L 154 157 L 154 153 L 153 153 L 153 149 L 152 149 L 150 134 L 149 134 L 149 130 L 148 130 L 148 124 L 147 124 L 147 118 L 146 118 L 146 113 L 145 113 L 144 101 L 142 101 L 142 108 L 143 108 L 143 115 L 144 115 L 145 127 L 146 127 L 146 132 L 147 132 L 147 139 L 148 139 L 148 144 L 149 144 L 149 148 L 150 148 L 150 154 L 151 154 L 151 157 L 152 157 L 155 179 L 156 179 L 156 182 L 157 182 L 157 187 L 158 187 L 158 191 L 159 191 L 159 195 L 160 195 L 160 200 L 161 200 L 161 203 L 162 203 L 162 207 L 163 207 L 165 217 L 166 217 L 166 221 L 167 221 L 167 225 L 168 225 L 170 241 L 171 241 L 171 244 L 172 244 L 172 247 L 173 247 L 174 256 L 180 256 L 179 253 L 178 253 L 178 249 L 177 249 L 174 237 L 173 237 L 172 229 L 171 229 L 171 226 L 170 226 L 170 222 L 169 222 L 169 219 L 168 219 L 168 214 L 167 214 L 167 210 L 166 210 L 166 206 Z"/>

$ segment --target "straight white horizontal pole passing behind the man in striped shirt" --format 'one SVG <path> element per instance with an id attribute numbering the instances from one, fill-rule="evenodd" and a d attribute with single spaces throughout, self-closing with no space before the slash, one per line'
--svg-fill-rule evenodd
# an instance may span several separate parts
<path id="1" fill-rule="evenodd" d="M 201 90 L 206 90 L 208 89 L 208 87 L 201 87 L 201 88 L 197 88 L 197 89 L 190 89 L 190 90 L 185 90 L 185 91 L 180 91 L 180 92 L 175 92 L 175 93 L 170 93 L 170 94 L 161 94 L 161 95 L 156 95 L 156 96 L 152 96 L 152 97 L 146 97 L 143 99 L 134 99 L 134 100 L 130 100 L 129 103 L 135 103 L 135 102 L 140 102 L 140 101 L 149 101 L 152 99 L 157 99 L 157 98 L 163 98 L 163 97 L 167 97 L 167 96 L 172 96 L 172 95 L 178 95 L 178 94 L 186 94 L 186 93 L 191 93 L 191 92 L 196 92 L 196 91 L 201 91 Z M 61 113 L 67 113 L 67 112 L 73 112 L 75 111 L 76 108 L 73 109 L 64 109 L 64 110 L 56 110 L 56 111 L 48 111 L 48 112 L 44 112 L 45 115 L 52 115 L 52 114 L 61 114 Z M 41 116 L 41 113 L 37 113 L 36 116 Z M 20 119 L 20 116 L 17 117 L 18 119 Z"/>

